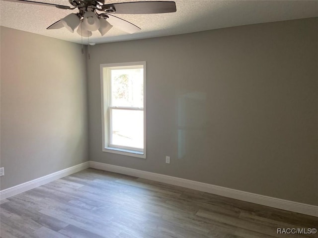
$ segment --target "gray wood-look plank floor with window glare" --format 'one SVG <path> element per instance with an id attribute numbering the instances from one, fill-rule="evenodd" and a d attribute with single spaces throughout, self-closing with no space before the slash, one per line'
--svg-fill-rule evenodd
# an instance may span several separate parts
<path id="1" fill-rule="evenodd" d="M 4 199 L 1 238 L 294 238 L 318 218 L 87 169 Z"/>

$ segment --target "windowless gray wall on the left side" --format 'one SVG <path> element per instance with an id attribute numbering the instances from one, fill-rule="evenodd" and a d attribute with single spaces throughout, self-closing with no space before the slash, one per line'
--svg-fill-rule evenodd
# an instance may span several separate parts
<path id="1" fill-rule="evenodd" d="M 1 27 L 1 189 L 88 160 L 80 45 Z"/>

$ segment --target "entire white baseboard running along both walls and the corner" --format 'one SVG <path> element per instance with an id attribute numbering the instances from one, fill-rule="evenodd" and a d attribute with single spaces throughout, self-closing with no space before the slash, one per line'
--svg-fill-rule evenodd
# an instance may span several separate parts
<path id="1" fill-rule="evenodd" d="M 72 166 L 70 168 L 55 172 L 53 174 L 43 176 L 38 179 L 33 179 L 31 181 L 27 181 L 21 184 L 18 184 L 13 187 L 9 187 L 3 190 L 0 190 L 0 200 L 14 196 L 21 192 L 25 192 L 32 188 L 41 186 L 48 182 L 54 181 L 56 179 L 61 179 L 65 176 L 72 175 L 77 173 L 81 170 L 87 168 L 94 168 L 98 170 L 110 171 L 115 172 L 123 175 L 135 176 L 142 179 L 150 179 L 158 182 L 164 182 L 167 184 L 177 185 L 181 187 L 187 187 L 203 192 L 213 193 L 220 196 L 230 197 L 234 199 L 239 199 L 246 202 L 252 202 L 264 206 L 275 207 L 278 209 L 283 209 L 292 212 L 303 213 L 311 216 L 318 217 L 318 206 L 300 203 L 300 202 L 293 202 L 289 200 L 284 200 L 275 197 L 269 197 L 264 195 L 259 195 L 251 192 L 244 192 L 232 188 L 217 186 L 209 183 L 204 182 L 197 182 L 189 179 L 180 179 L 172 176 L 161 175 L 151 172 L 146 172 L 142 170 L 135 170 L 121 166 L 115 166 L 110 164 L 104 164 L 94 161 L 84 162 L 82 164 Z"/>

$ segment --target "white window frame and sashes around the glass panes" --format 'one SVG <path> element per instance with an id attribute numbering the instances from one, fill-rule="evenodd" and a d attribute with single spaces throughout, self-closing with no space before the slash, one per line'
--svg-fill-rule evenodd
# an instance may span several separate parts
<path id="1" fill-rule="evenodd" d="M 114 107 L 111 105 L 111 82 L 109 68 L 134 68 L 143 66 L 144 68 L 144 108 Z M 107 75 L 105 75 L 107 73 Z M 126 62 L 126 63 L 104 63 L 100 64 L 101 82 L 101 116 L 102 116 L 102 151 L 114 154 L 121 154 L 146 159 L 146 61 Z M 144 111 L 144 149 L 130 148 L 110 144 L 110 132 L 112 131 L 110 117 L 112 109 Z"/>

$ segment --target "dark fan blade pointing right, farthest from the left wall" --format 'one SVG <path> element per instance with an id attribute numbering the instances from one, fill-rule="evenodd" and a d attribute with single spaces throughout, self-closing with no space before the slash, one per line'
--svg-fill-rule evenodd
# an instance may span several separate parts
<path id="1" fill-rule="evenodd" d="M 174 1 L 134 1 L 104 4 L 102 10 L 118 14 L 152 14 L 175 12 Z M 115 8 L 115 11 L 113 9 Z"/>

